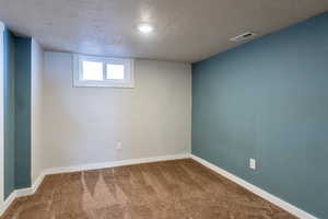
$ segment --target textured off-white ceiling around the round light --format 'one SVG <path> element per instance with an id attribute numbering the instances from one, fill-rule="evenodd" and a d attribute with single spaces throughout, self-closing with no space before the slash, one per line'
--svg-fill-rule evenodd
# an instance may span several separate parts
<path id="1" fill-rule="evenodd" d="M 0 20 L 44 48 L 198 61 L 328 10 L 328 0 L 0 0 Z M 140 22 L 155 25 L 138 33 Z"/>

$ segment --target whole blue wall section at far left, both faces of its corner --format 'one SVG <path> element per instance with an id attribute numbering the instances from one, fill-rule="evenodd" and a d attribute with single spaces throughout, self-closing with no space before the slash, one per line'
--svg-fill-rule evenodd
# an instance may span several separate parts
<path id="1" fill-rule="evenodd" d="M 4 197 L 31 186 L 31 38 L 4 32 Z"/>

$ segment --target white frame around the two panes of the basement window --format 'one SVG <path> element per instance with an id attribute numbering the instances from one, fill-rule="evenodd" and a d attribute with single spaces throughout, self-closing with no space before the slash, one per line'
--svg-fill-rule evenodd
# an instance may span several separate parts
<path id="1" fill-rule="evenodd" d="M 129 58 L 112 58 L 98 56 L 73 55 L 73 87 L 94 88 L 134 88 L 134 60 Z M 82 77 L 83 61 L 97 61 L 103 64 L 103 80 L 84 80 Z M 125 79 L 107 79 L 107 64 L 122 65 L 125 67 Z"/>

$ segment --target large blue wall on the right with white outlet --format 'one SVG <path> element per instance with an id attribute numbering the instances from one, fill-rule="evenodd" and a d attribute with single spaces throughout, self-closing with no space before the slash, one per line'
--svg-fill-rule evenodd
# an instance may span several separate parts
<path id="1" fill-rule="evenodd" d="M 192 153 L 328 218 L 328 13 L 192 65 Z"/>

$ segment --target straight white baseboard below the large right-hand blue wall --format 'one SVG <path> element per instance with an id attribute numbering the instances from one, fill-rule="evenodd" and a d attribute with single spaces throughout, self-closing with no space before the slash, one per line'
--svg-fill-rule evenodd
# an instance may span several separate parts
<path id="1" fill-rule="evenodd" d="M 238 176 L 236 176 L 236 175 L 234 175 L 234 174 L 232 174 L 232 173 L 230 173 L 230 172 L 227 172 L 227 171 L 225 171 L 225 170 L 223 170 L 223 169 L 221 169 L 197 155 L 191 154 L 190 158 L 194 159 L 195 161 L 201 163 L 202 165 L 211 169 L 212 171 L 223 175 L 224 177 L 227 177 L 229 180 L 233 181 L 234 183 L 243 186 L 247 191 L 250 191 L 251 193 L 260 196 L 261 198 L 263 198 L 263 199 L 274 204 L 276 206 L 284 209 L 285 211 L 296 216 L 300 219 L 317 219 L 313 215 L 293 206 L 292 204 L 290 204 L 288 201 L 284 201 L 280 198 L 278 198 L 277 196 L 244 181 L 243 178 L 241 178 L 241 177 L 238 177 Z"/>

